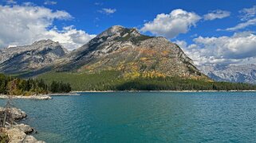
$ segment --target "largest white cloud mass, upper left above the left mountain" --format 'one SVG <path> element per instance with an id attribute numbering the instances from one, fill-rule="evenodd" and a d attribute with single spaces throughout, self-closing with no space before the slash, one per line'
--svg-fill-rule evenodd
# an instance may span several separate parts
<path id="1" fill-rule="evenodd" d="M 70 18 L 72 16 L 65 11 L 53 11 L 41 6 L 0 5 L 0 48 L 52 39 L 66 48 L 74 49 L 95 37 L 73 26 L 57 29 L 53 25 L 55 20 Z"/>

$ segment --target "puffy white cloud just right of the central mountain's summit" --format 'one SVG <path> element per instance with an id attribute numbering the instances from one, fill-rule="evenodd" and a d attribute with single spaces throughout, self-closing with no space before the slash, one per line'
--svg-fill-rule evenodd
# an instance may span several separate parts
<path id="1" fill-rule="evenodd" d="M 144 24 L 142 32 L 151 32 L 156 36 L 173 38 L 179 33 L 187 33 L 201 17 L 185 10 L 172 10 L 170 14 L 158 14 L 153 21 Z"/>

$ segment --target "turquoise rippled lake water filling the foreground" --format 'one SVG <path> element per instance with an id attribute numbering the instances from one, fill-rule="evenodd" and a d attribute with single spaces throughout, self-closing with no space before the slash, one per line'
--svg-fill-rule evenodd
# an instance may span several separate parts
<path id="1" fill-rule="evenodd" d="M 252 92 L 83 93 L 14 102 L 29 115 L 22 122 L 49 143 L 256 141 Z"/>

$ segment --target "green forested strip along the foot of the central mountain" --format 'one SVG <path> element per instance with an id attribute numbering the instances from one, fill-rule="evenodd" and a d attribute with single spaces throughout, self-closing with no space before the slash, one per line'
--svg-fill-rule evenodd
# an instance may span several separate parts
<path id="1" fill-rule="evenodd" d="M 117 71 L 103 71 L 93 74 L 86 72 L 49 72 L 38 76 L 46 83 L 65 81 L 73 91 L 246 91 L 256 90 L 256 86 L 246 83 L 214 82 L 202 79 L 184 79 L 181 77 L 144 77 L 125 78 Z"/>

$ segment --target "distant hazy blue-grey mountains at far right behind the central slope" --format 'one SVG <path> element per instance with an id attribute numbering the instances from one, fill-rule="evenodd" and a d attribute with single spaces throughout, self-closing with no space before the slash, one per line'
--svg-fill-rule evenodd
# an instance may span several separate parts
<path id="1" fill-rule="evenodd" d="M 256 84 L 256 65 L 201 66 L 201 71 L 216 81 Z"/>

